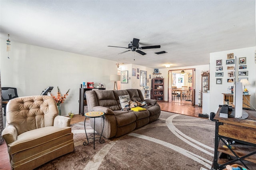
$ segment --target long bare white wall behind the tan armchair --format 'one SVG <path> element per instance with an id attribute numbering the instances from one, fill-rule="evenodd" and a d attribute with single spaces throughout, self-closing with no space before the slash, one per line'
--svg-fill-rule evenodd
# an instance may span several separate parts
<path id="1" fill-rule="evenodd" d="M 117 74 L 116 61 L 17 42 L 12 42 L 8 59 L 6 40 L 1 39 L 0 45 L 2 87 L 16 87 L 20 97 L 40 95 L 49 86 L 54 87 L 53 95 L 56 95 L 57 86 L 62 95 L 70 89 L 61 104 L 62 115 L 70 111 L 78 113 L 82 82 L 94 82 L 94 87 L 101 83 L 107 90 L 113 89 L 110 75 Z"/>

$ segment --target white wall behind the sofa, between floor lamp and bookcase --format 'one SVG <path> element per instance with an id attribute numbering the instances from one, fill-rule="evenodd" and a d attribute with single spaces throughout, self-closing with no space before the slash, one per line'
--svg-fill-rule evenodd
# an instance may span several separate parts
<path id="1" fill-rule="evenodd" d="M 121 71 L 128 70 L 128 77 L 130 77 L 130 79 L 128 79 L 128 83 L 121 83 L 121 89 L 142 89 L 142 87 L 140 87 L 140 79 L 137 79 L 137 75 L 140 75 L 140 72 L 137 73 L 137 69 L 147 71 L 147 79 L 149 80 L 147 86 L 150 86 L 151 88 L 151 80 L 153 77 L 152 73 L 154 69 L 136 64 L 120 65 L 120 67 Z M 136 69 L 136 76 L 132 76 L 132 68 Z M 149 79 L 149 75 L 151 75 L 151 79 Z"/>

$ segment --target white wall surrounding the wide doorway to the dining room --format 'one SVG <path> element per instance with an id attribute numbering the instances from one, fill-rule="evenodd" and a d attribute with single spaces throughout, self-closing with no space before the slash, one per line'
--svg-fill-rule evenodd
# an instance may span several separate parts
<path id="1" fill-rule="evenodd" d="M 168 71 L 169 70 L 177 70 L 177 69 L 196 69 L 196 82 L 195 82 L 195 89 L 196 89 L 196 94 L 195 94 L 195 105 L 198 105 L 198 95 L 199 91 L 201 91 L 201 86 L 202 86 L 202 78 L 201 78 L 201 71 L 208 71 L 210 69 L 210 65 L 194 65 L 194 66 L 189 66 L 189 67 L 172 67 L 172 68 L 165 68 L 165 69 L 159 69 L 161 76 L 164 77 L 164 101 L 168 101 Z M 210 77 L 212 76 L 212 73 L 210 73 Z M 211 91 L 211 87 L 210 87 Z"/>

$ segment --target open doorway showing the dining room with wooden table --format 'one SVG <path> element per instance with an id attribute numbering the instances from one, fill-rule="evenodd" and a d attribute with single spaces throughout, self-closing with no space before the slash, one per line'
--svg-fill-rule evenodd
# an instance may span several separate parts
<path id="1" fill-rule="evenodd" d="M 168 102 L 195 105 L 196 69 L 168 71 Z"/>

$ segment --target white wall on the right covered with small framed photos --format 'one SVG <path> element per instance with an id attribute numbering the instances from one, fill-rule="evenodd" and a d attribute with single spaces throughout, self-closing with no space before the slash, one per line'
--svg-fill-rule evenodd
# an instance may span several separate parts
<path id="1" fill-rule="evenodd" d="M 246 88 L 249 91 L 250 96 L 250 102 L 255 107 L 256 105 L 256 93 L 255 93 L 255 81 L 256 81 L 256 63 L 254 61 L 255 57 L 255 47 L 248 47 L 248 48 L 242 48 L 242 49 L 233 49 L 228 51 L 220 51 L 216 53 L 210 53 L 210 112 L 216 113 L 218 110 L 218 106 L 223 104 L 223 95 L 222 93 L 227 93 L 228 86 L 232 86 L 233 83 L 228 83 L 228 70 L 227 66 L 235 66 L 235 65 L 226 65 L 226 59 L 228 53 L 234 53 L 234 56 L 236 57 L 246 57 L 246 64 L 247 69 L 239 69 L 238 71 L 248 71 L 248 81 L 250 82 L 250 86 L 246 86 Z M 216 84 L 216 77 L 215 72 L 216 71 L 216 60 L 222 59 L 222 66 L 223 66 L 223 77 L 222 78 L 222 84 Z"/>

